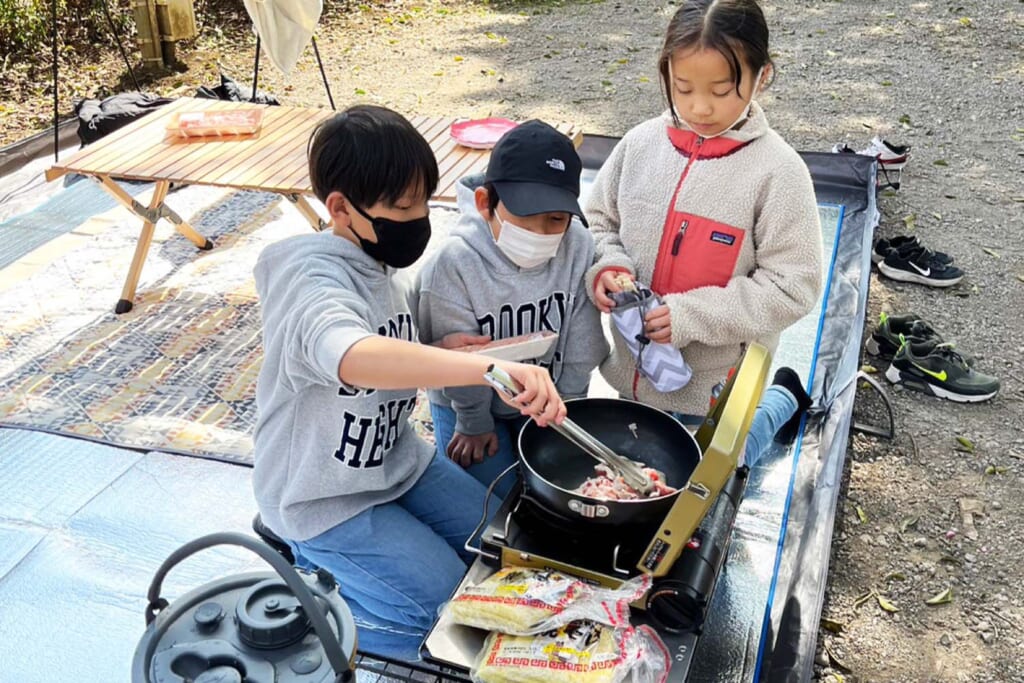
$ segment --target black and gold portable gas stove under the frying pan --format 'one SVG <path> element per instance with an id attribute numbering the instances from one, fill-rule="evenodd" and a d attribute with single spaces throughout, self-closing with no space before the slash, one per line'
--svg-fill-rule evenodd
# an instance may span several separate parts
<path id="1" fill-rule="evenodd" d="M 475 533 L 467 542 L 479 558 L 463 585 L 506 566 L 555 569 L 612 588 L 647 573 L 651 587 L 633 603 L 633 622 L 658 632 L 673 654 L 669 680 L 685 681 L 746 485 L 746 468 L 736 464 L 769 365 L 767 349 L 748 348 L 697 429 L 700 462 L 660 525 L 581 525 L 537 503 L 520 480 L 490 521 L 481 523 L 479 548 L 472 545 Z M 423 653 L 442 666 L 468 670 L 484 636 L 442 613 Z"/>

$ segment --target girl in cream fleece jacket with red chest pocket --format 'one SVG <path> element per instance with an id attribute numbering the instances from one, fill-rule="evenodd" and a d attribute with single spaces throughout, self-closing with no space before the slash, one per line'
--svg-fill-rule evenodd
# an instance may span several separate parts
<path id="1" fill-rule="evenodd" d="M 669 112 L 626 134 L 585 207 L 597 250 L 587 289 L 608 311 L 616 274 L 650 284 L 666 305 L 644 332 L 682 349 L 692 379 L 658 393 L 617 331 L 601 374 L 624 395 L 702 415 L 746 344 L 774 351 L 814 306 L 821 227 L 807 167 L 753 101 L 771 69 L 754 0 L 687 0 L 659 68 Z"/>

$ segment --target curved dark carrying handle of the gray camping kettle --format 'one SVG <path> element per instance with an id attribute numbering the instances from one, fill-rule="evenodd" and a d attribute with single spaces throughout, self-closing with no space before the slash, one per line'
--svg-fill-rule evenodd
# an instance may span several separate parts
<path id="1" fill-rule="evenodd" d="M 334 670 L 336 683 L 352 679 L 351 664 L 342 651 L 341 643 L 338 642 L 337 636 L 331 630 L 331 625 L 328 624 L 324 612 L 317 608 L 316 601 L 306 583 L 299 578 L 299 574 L 296 573 L 292 565 L 276 551 L 260 541 L 256 541 L 243 533 L 238 533 L 237 531 L 219 531 L 200 537 L 181 546 L 164 560 L 164 563 L 157 569 L 157 573 L 154 575 L 153 582 L 150 584 L 150 590 L 146 593 L 146 598 L 150 600 L 150 604 L 145 608 L 146 626 L 153 624 L 153 621 L 157 618 L 157 614 L 169 605 L 167 600 L 160 597 L 160 590 L 163 587 L 164 578 L 171 568 L 189 555 L 213 546 L 240 546 L 251 550 L 266 560 L 267 564 L 273 567 L 278 575 L 285 582 L 285 585 L 292 591 L 292 594 L 298 598 L 299 604 L 302 605 L 302 609 L 305 610 L 306 615 L 309 617 L 309 623 L 312 625 L 313 631 L 324 644 L 324 653 L 327 655 L 327 659 Z M 340 623 L 338 624 L 338 628 L 341 629 Z"/>

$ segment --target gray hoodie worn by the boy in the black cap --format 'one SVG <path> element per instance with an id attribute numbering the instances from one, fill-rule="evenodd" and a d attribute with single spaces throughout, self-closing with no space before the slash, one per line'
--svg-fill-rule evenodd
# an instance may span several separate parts
<path id="1" fill-rule="evenodd" d="M 583 291 L 584 274 L 594 263 L 594 241 L 573 219 L 553 259 L 518 267 L 498 248 L 476 210 L 473 190 L 482 182 L 483 176 L 459 181 L 459 224 L 420 270 L 415 288 L 420 339 L 432 343 L 453 332 L 470 332 L 497 341 L 557 332 L 558 343 L 539 362 L 550 369 L 564 397 L 584 396 L 591 372 L 608 354 L 600 312 Z M 429 394 L 431 401 L 455 410 L 456 430 L 467 435 L 493 431 L 496 417 L 519 415 L 486 387 Z"/>

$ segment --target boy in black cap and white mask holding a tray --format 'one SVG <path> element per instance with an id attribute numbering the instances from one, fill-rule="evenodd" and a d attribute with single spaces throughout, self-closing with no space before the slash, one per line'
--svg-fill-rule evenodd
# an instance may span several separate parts
<path id="1" fill-rule="evenodd" d="M 587 394 L 608 344 L 600 312 L 583 291 L 594 241 L 581 223 L 582 171 L 568 137 L 527 121 L 498 141 L 485 175 L 460 181 L 459 224 L 416 286 L 424 342 L 459 332 L 496 341 L 554 332 L 558 341 L 538 365 L 550 371 L 561 395 Z M 515 462 L 523 422 L 515 410 L 481 387 L 429 394 L 439 456 L 484 484 Z M 504 497 L 512 481 L 505 477 L 495 493 Z"/>

